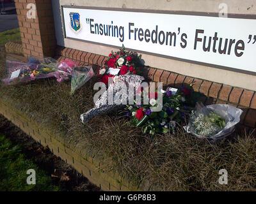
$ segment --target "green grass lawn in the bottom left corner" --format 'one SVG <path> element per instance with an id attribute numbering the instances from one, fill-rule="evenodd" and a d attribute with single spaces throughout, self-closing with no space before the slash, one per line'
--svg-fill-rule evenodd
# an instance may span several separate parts
<path id="1" fill-rule="evenodd" d="M 36 171 L 36 184 L 28 185 L 27 170 Z M 0 191 L 59 191 L 51 176 L 25 158 L 18 145 L 0 135 Z"/>

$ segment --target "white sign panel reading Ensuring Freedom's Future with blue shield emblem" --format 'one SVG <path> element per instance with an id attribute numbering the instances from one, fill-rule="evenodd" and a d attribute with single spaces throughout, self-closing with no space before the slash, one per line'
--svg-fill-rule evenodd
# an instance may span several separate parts
<path id="1" fill-rule="evenodd" d="M 67 38 L 256 72 L 255 19 L 87 8 L 63 19 Z"/>

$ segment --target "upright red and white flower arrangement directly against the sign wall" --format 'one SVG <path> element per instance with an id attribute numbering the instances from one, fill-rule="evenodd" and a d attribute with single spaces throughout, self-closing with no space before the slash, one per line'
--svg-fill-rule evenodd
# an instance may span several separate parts
<path id="1" fill-rule="evenodd" d="M 143 63 L 141 55 L 137 52 L 125 50 L 124 45 L 118 52 L 111 52 L 104 66 L 99 69 L 101 82 L 108 84 L 109 77 L 116 75 L 139 75 L 142 71 Z"/>

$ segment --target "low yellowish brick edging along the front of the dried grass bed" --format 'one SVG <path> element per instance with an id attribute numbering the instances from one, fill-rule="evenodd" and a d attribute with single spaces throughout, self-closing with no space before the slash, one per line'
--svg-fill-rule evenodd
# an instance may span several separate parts
<path id="1" fill-rule="evenodd" d="M 67 143 L 60 141 L 60 138 L 49 133 L 47 129 L 27 117 L 24 112 L 15 109 L 10 103 L 7 104 L 0 101 L 0 113 L 35 139 L 36 142 L 39 142 L 44 147 L 49 147 L 53 154 L 61 157 L 93 184 L 99 186 L 100 189 L 104 191 L 138 191 L 137 187 L 131 186 L 129 182 L 126 182 L 118 175 L 104 171 L 104 164 L 90 156 L 82 156 L 76 152 L 74 147 L 70 147 Z"/>

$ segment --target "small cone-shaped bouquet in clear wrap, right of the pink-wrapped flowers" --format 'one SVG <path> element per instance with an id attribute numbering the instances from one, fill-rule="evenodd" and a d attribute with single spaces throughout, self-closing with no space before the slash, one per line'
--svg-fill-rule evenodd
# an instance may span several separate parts
<path id="1" fill-rule="evenodd" d="M 71 80 L 71 92 L 74 92 L 94 76 L 92 66 L 81 66 L 73 69 Z"/>

